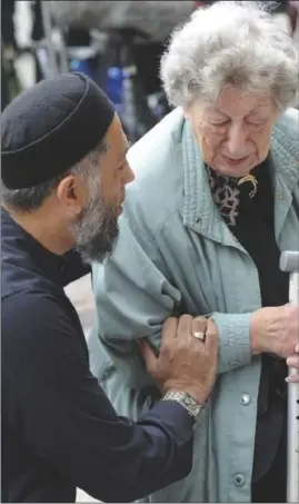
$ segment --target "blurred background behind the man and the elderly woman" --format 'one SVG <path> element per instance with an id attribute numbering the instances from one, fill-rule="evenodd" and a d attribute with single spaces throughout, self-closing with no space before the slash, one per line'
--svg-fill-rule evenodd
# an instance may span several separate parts
<path id="1" fill-rule="evenodd" d="M 169 112 L 159 61 L 176 26 L 212 1 L 1 1 L 1 110 L 22 90 L 81 71 L 113 101 L 130 142 Z M 269 3 L 269 2 L 268 2 Z M 272 16 L 299 46 L 299 1 L 271 2 Z M 86 336 L 93 297 L 87 276 L 66 288 Z M 77 502 L 94 502 L 78 490 Z"/>

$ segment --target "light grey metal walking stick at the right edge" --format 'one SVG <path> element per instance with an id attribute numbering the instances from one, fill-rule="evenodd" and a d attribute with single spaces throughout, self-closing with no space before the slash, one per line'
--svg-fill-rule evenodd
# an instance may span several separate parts
<path id="1" fill-rule="evenodd" d="M 299 253 L 285 251 L 280 269 L 290 274 L 289 300 L 299 304 Z M 289 368 L 289 374 L 298 373 Z M 299 384 L 288 384 L 287 502 L 299 502 Z"/>

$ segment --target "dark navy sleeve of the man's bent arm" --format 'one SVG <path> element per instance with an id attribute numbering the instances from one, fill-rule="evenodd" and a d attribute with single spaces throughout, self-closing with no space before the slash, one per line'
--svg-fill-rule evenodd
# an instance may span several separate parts
<path id="1" fill-rule="evenodd" d="M 17 314 L 17 316 L 16 316 Z M 41 294 L 2 303 L 2 414 L 16 436 L 94 498 L 130 502 L 180 480 L 192 419 L 173 402 L 118 417 L 63 309 Z"/>

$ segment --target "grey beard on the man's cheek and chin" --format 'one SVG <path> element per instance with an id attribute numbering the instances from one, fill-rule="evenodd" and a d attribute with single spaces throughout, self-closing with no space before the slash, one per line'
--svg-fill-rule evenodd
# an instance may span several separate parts
<path id="1" fill-rule="evenodd" d="M 78 223 L 71 225 L 76 248 L 86 263 L 102 263 L 110 256 L 119 236 L 118 211 L 101 199 L 87 205 Z"/>

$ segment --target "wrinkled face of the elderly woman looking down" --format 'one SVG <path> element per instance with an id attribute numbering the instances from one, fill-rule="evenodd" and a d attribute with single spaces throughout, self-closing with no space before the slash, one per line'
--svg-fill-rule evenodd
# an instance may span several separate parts
<path id="1" fill-rule="evenodd" d="M 278 111 L 270 95 L 228 86 L 215 105 L 195 102 L 186 117 L 205 162 L 219 174 L 239 178 L 266 159 Z"/>

